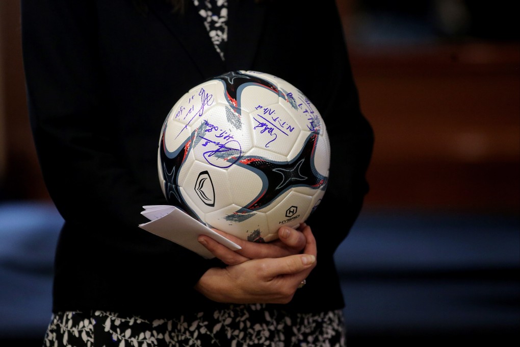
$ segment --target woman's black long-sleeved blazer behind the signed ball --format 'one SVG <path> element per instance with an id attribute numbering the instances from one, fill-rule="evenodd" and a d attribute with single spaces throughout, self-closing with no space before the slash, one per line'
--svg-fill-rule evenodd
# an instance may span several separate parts
<path id="1" fill-rule="evenodd" d="M 157 172 L 162 123 L 192 86 L 230 70 L 279 76 L 320 111 L 331 142 L 327 192 L 308 224 L 318 263 L 287 310 L 344 305 L 333 253 L 368 191 L 373 135 L 359 109 L 333 0 L 228 0 L 222 61 L 191 1 L 22 1 L 28 104 L 38 158 L 66 221 L 53 310 L 173 314 L 212 309 L 192 289 L 204 260 L 138 228 L 143 205 L 167 203 Z M 309 5 L 313 4 L 313 5 Z"/>

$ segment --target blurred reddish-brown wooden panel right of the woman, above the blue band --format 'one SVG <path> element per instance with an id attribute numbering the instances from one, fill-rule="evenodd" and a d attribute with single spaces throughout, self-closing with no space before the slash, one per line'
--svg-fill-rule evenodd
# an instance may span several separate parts
<path id="1" fill-rule="evenodd" d="M 367 204 L 517 212 L 518 45 L 353 49 L 375 132 Z"/>

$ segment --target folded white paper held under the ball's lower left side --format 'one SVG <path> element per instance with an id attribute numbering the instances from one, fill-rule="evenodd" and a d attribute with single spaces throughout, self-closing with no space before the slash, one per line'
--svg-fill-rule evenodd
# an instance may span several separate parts
<path id="1" fill-rule="evenodd" d="M 150 222 L 139 224 L 140 228 L 173 241 L 206 259 L 212 259 L 215 256 L 197 241 L 199 235 L 209 236 L 231 250 L 241 249 L 235 242 L 215 233 L 175 206 L 147 205 L 143 208 L 145 210 L 141 214 L 147 217 Z"/>

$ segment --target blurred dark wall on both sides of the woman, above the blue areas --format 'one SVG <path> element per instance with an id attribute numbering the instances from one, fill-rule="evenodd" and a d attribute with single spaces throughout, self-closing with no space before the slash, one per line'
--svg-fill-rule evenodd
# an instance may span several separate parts
<path id="1" fill-rule="evenodd" d="M 516 213 L 520 54 L 518 34 L 496 24 L 501 8 L 337 3 L 375 131 L 366 208 Z M 493 30 L 482 28 L 486 13 Z M 19 0 L 2 0 L 0 198 L 45 200 L 24 93 Z"/>

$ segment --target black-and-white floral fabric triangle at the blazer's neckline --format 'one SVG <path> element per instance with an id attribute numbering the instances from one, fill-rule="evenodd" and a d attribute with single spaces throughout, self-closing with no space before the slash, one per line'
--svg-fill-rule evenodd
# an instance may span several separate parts
<path id="1" fill-rule="evenodd" d="M 224 60 L 224 45 L 227 41 L 227 0 L 193 0 L 204 19 L 204 26 L 220 58 Z"/>

